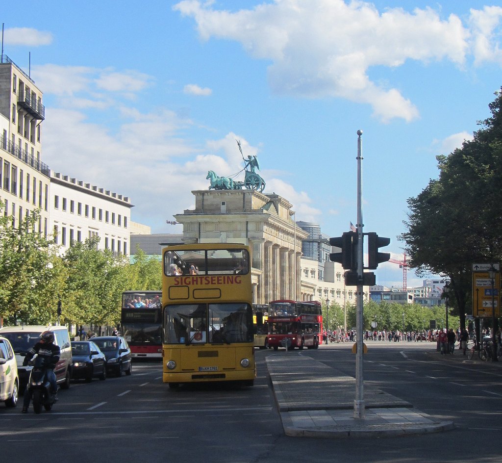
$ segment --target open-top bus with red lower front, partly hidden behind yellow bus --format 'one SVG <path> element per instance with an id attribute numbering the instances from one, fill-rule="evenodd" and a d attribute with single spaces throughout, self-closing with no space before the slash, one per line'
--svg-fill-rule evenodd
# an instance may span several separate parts
<path id="1" fill-rule="evenodd" d="M 120 333 L 135 359 L 162 359 L 162 291 L 124 291 Z"/>

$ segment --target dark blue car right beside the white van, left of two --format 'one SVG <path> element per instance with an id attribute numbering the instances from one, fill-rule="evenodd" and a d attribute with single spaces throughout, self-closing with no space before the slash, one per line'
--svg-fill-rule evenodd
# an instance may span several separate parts
<path id="1" fill-rule="evenodd" d="M 87 382 L 96 377 L 101 381 L 106 379 L 106 357 L 93 341 L 72 341 L 71 354 L 72 379 Z"/>

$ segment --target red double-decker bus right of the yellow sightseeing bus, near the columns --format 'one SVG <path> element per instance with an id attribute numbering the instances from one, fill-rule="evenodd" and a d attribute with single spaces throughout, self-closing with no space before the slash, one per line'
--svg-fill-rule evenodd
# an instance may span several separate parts
<path id="1" fill-rule="evenodd" d="M 317 301 L 278 300 L 269 303 L 269 346 L 274 350 L 317 349 L 322 342 L 322 309 Z"/>

